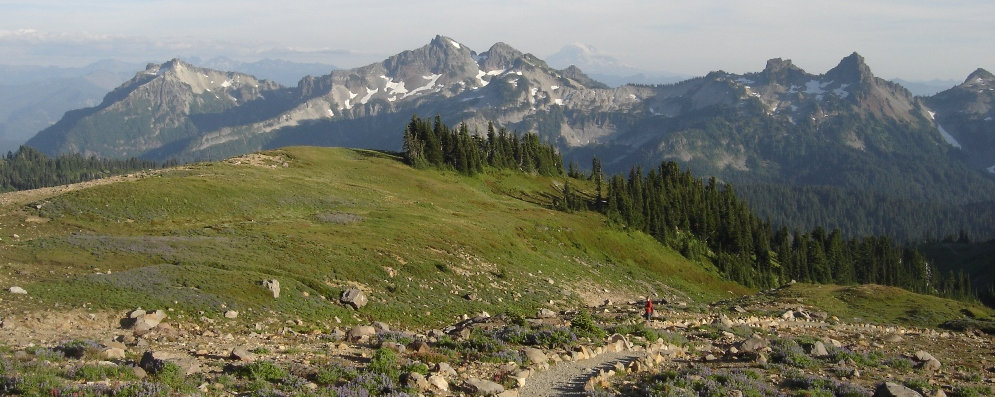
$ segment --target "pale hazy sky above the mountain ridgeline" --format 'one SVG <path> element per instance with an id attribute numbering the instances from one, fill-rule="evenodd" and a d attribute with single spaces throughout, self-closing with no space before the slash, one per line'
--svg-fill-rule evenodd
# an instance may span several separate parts
<path id="1" fill-rule="evenodd" d="M 774 57 L 822 73 L 853 51 L 885 78 L 995 70 L 992 0 L 0 0 L 0 64 L 227 56 L 354 67 L 436 34 L 540 57 L 585 43 L 686 75 L 759 71 Z"/>

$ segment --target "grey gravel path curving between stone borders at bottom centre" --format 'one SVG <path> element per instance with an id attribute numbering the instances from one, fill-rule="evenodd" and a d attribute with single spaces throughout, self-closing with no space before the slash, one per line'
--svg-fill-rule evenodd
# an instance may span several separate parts
<path id="1" fill-rule="evenodd" d="M 628 363 L 645 355 L 645 352 L 604 353 L 595 358 L 576 362 L 560 362 L 548 370 L 539 371 L 518 389 L 520 397 L 583 396 L 584 383 L 597 375 L 599 369 L 608 369 L 615 363 Z"/>

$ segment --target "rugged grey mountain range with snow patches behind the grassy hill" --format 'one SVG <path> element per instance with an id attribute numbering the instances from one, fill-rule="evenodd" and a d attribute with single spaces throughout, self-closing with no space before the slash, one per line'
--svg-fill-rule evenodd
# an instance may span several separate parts
<path id="1" fill-rule="evenodd" d="M 961 85 L 917 97 L 874 76 L 853 53 L 821 74 L 771 59 L 755 73 L 610 88 L 504 43 L 477 53 L 437 36 L 289 87 L 178 59 L 150 64 L 28 145 L 181 161 L 287 145 L 397 150 L 413 114 L 438 114 L 477 131 L 488 122 L 535 131 L 568 161 L 598 156 L 608 172 L 673 160 L 737 186 L 829 186 L 839 195 L 989 208 L 992 87 L 995 78 L 979 69 Z"/>

